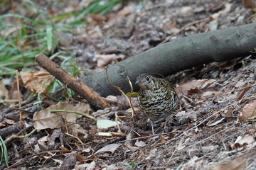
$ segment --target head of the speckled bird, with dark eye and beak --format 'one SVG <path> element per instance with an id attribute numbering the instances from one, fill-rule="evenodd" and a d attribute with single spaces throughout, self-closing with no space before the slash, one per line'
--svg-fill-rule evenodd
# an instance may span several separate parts
<path id="1" fill-rule="evenodd" d="M 145 73 L 139 74 L 135 84 L 138 84 L 142 90 L 152 89 L 155 84 L 154 77 Z"/>

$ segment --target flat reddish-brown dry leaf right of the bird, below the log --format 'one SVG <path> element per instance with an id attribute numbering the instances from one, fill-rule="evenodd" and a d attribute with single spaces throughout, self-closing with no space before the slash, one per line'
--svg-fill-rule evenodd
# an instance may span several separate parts
<path id="1" fill-rule="evenodd" d="M 194 92 L 193 89 L 197 89 L 198 92 L 201 89 L 206 89 L 206 87 L 210 86 L 210 84 L 213 84 L 215 81 L 215 79 L 198 79 L 187 81 L 184 84 L 177 85 L 176 91 L 181 94 L 188 94 L 189 92 L 191 93 L 191 91 Z"/>

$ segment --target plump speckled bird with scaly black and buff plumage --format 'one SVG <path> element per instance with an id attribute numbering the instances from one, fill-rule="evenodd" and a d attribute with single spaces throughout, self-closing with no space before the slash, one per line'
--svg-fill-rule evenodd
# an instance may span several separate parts
<path id="1" fill-rule="evenodd" d="M 165 79 L 139 74 L 139 109 L 151 120 L 167 117 L 178 107 L 178 97 L 174 87 Z"/>

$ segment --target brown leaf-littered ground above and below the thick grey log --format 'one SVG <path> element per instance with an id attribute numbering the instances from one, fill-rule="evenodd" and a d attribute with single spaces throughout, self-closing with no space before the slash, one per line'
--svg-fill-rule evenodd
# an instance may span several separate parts
<path id="1" fill-rule="evenodd" d="M 106 18 L 88 16 L 91 23 L 68 33 L 69 42 L 60 38 L 60 47 L 77 55 L 80 69 L 91 70 L 80 73 L 82 77 L 161 42 L 252 23 L 252 15 L 240 0 L 160 0 L 144 1 L 143 6 L 124 1 Z M 102 20 L 107 22 L 100 24 Z M 255 65 L 252 53 L 166 77 L 176 85 L 181 108 L 155 127 L 154 135 L 134 98 L 134 118 L 119 118 L 124 135 L 117 127 L 100 129 L 91 119 L 77 118 L 10 140 L 9 169 L 256 169 L 256 124 L 250 118 L 256 115 Z M 111 100 L 110 108 L 87 110 L 98 120 L 131 114 L 123 96 Z M 80 101 L 70 99 L 73 105 Z M 24 133 L 33 130 L 34 114 L 24 118 Z M 7 120 L 18 122 L 17 112 L 6 113 L 2 123 Z"/>

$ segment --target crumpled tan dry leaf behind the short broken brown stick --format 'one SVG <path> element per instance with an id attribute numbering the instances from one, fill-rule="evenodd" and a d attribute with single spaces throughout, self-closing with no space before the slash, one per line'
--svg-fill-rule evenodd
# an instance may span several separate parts
<path id="1" fill-rule="evenodd" d="M 54 77 L 48 72 L 34 71 L 21 72 L 21 79 L 26 89 L 32 91 L 33 94 L 38 94 L 48 90 L 48 86 Z"/>

